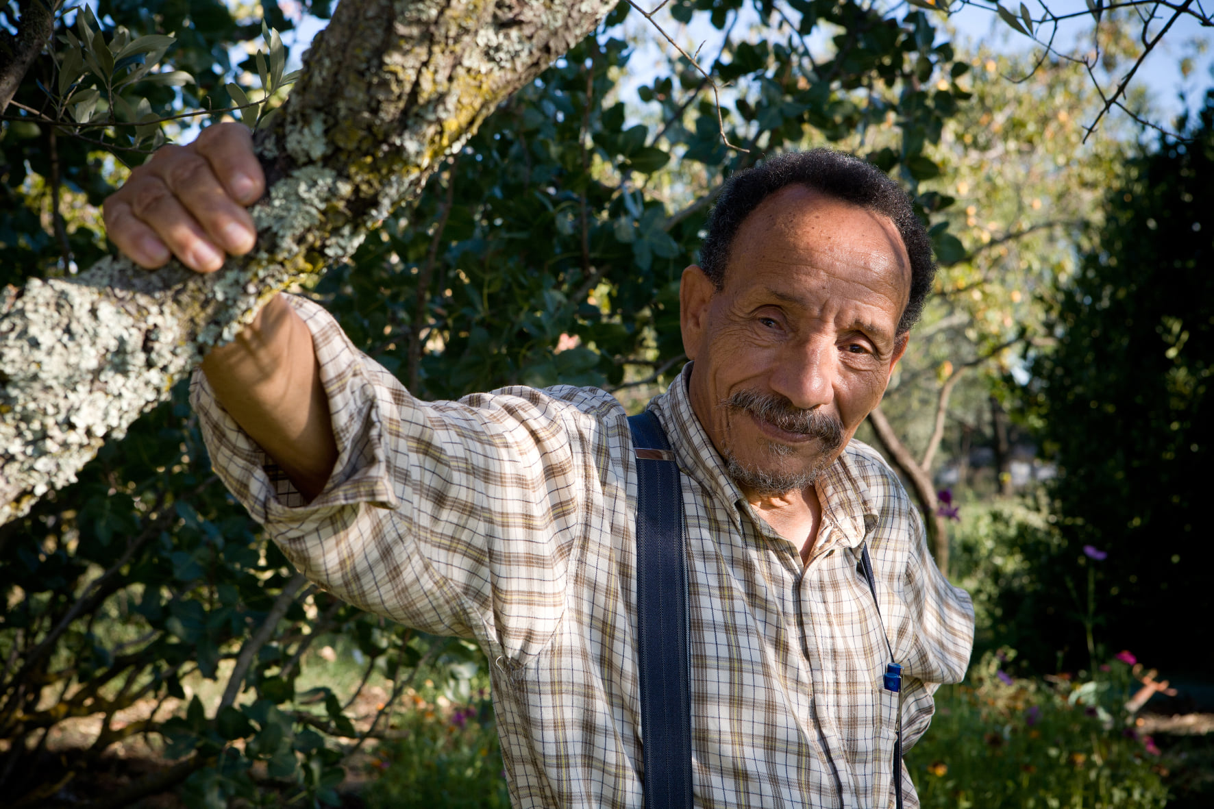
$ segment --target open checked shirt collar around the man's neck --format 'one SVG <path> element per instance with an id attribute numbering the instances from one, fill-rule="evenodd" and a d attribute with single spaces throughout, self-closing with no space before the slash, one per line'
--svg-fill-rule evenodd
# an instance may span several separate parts
<path id="1" fill-rule="evenodd" d="M 691 407 L 687 390 L 691 369 L 691 362 L 685 364 L 666 392 L 649 402 L 649 408 L 657 412 L 666 431 L 679 468 L 728 504 L 734 528 L 741 531 L 741 513 L 751 509 L 742 490 L 726 473 L 725 459 Z M 827 533 L 826 542 L 815 548 L 815 556 L 836 544 L 855 548 L 877 525 L 875 504 L 851 454 L 850 449 L 844 449 L 818 476 L 816 487 L 822 502 L 823 527 L 830 526 L 832 531 Z M 823 533 L 819 531 L 818 536 Z"/>

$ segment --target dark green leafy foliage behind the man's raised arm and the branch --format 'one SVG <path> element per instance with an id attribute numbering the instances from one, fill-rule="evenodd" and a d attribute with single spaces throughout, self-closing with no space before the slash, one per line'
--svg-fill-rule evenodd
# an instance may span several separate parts
<path id="1" fill-rule="evenodd" d="M 356 7 L 346 4 L 344 9 Z M 263 9 L 271 26 L 289 28 L 273 4 Z M 41 277 L 44 285 L 112 294 L 81 281 L 97 276 L 74 273 L 73 266 L 87 266 L 104 251 L 96 205 L 123 174 L 117 160 L 142 159 L 140 149 L 155 142 L 155 129 L 171 125 L 158 119 L 199 107 L 251 109 L 245 107 L 250 100 L 260 106 L 261 81 L 248 81 L 262 72 L 259 60 L 232 66 L 227 53 L 229 45 L 263 35 L 266 84 L 276 96 L 249 120 L 262 119 L 257 143 L 279 196 L 272 191 L 262 209 L 268 213 L 257 215 L 263 217 L 262 253 L 244 270 L 229 270 L 240 284 L 233 289 L 231 282 L 217 282 L 229 284 L 232 296 L 203 302 L 204 288 L 194 287 L 197 293 L 188 293 L 197 294 L 194 309 L 177 311 L 188 326 L 165 322 L 185 329 L 183 355 L 197 356 L 208 340 L 239 323 L 256 299 L 290 281 L 299 294 L 325 304 L 363 350 L 426 397 L 514 383 L 615 390 L 664 383 L 682 361 L 679 273 L 694 256 L 713 189 L 728 172 L 788 145 L 844 142 L 857 130 L 884 126 L 889 136 L 870 149 L 872 159 L 897 172 L 924 216 L 947 205 L 938 193 L 920 193 L 919 183 L 940 170 L 927 149 L 969 97 L 958 84 L 969 66 L 954 61 L 925 13 L 881 13 L 833 0 L 745 7 L 742 0 L 675 2 L 675 19 L 707 19 L 719 39 L 697 57 L 703 72 L 688 58 L 693 52 L 669 50 L 668 63 L 640 90 L 641 109 L 626 107 L 615 90 L 630 69 L 631 49 L 620 39 L 630 13 L 631 6 L 618 6 L 592 35 L 562 47 L 567 53 L 555 66 L 514 95 L 501 101 L 495 98 L 504 92 L 480 96 L 480 112 L 459 103 L 481 89 L 460 87 L 452 115 L 422 115 L 424 124 L 444 124 L 426 141 L 427 165 L 435 169 L 426 180 L 418 160 L 391 151 L 362 169 L 367 174 L 357 174 L 356 163 L 371 164 L 351 155 L 378 147 L 381 132 L 348 125 L 362 119 L 341 106 L 347 102 L 336 97 L 342 87 L 333 86 L 331 70 L 310 74 L 324 53 L 345 52 L 351 41 L 380 41 L 374 36 L 346 39 L 353 34 L 335 22 L 305 60 L 290 101 L 267 118 L 283 95 L 276 81 L 285 77 L 276 79 L 282 62 L 276 62 L 276 38 L 262 32 L 262 19 L 233 19 L 219 4 L 192 4 L 188 18 L 168 2 L 101 4 L 90 40 L 95 60 L 100 47 L 113 56 L 141 36 L 172 34 L 175 43 L 155 40 L 161 44 L 143 53 L 140 64 L 155 62 L 144 75 L 181 72 L 191 79 L 141 84 L 141 78 L 120 87 L 124 101 L 118 102 L 112 89 L 124 77 L 114 79 L 114 72 L 131 69 L 137 60 L 98 63 L 98 70 L 90 64 L 75 79 L 79 84 L 59 87 L 58 72 L 73 47 L 67 32 L 83 41 L 73 12 L 57 23 L 63 39 L 55 40 L 18 87 L 16 112 L 11 106 L 5 114 L 0 242 L 12 260 L 0 268 L 2 281 L 24 283 L 28 290 L 30 279 Z M 758 15 L 760 29 L 734 33 L 743 13 Z M 520 27 L 500 26 L 506 32 Z M 824 50 L 806 45 L 816 32 L 829 35 Z M 382 27 L 376 29 L 381 34 Z M 726 81 L 732 84 L 719 113 L 711 85 Z M 78 126 L 75 109 L 61 103 L 63 94 L 90 89 L 97 90 L 100 117 L 92 118 L 93 111 L 80 117 L 98 125 Z M 124 104 L 135 111 L 135 120 Z M 56 117 L 63 111 L 70 121 Z M 469 135 L 478 115 L 490 111 Z M 396 120 L 419 120 L 407 109 L 398 112 Z M 456 120 L 456 113 L 470 118 Z M 299 135 L 312 131 L 310 121 L 316 120 L 325 121 L 316 137 Z M 291 131 L 297 134 L 294 146 Z M 391 138 L 388 132 L 382 140 Z M 279 151 L 268 153 L 267 143 L 278 143 Z M 448 146 L 452 154 L 444 160 Z M 307 163 L 313 149 L 320 157 Z M 311 179 L 327 171 L 358 182 L 345 188 L 327 174 L 328 185 L 305 187 L 297 182 L 302 170 L 311 170 L 305 175 Z M 413 185 L 393 185 L 403 182 L 393 172 L 413 177 Z M 409 188 L 420 196 L 385 208 L 385 200 L 407 196 Z M 319 224 L 290 230 L 284 238 L 287 225 L 274 224 L 274 200 L 305 192 L 328 194 L 313 205 Z M 352 226 L 368 222 L 379 227 L 354 249 Z M 955 253 L 946 230 L 936 230 L 935 237 L 944 255 Z M 289 251 L 290 239 L 302 249 Z M 327 254 L 334 244 L 342 249 Z M 297 260 L 310 266 L 291 264 Z M 251 292 L 245 288 L 248 273 L 274 266 L 284 271 L 261 275 Z M 181 287 L 171 284 L 202 283 L 181 282 L 185 275 L 176 270 L 152 275 L 163 283 L 161 300 L 182 299 L 170 292 Z M 134 272 L 124 277 L 142 283 Z M 13 302 L 29 296 L 6 294 Z M 221 305 L 217 315 L 212 307 Z M 4 321 L 19 322 L 12 310 Z M 148 339 L 154 343 L 159 335 Z M 330 599 L 265 543 L 208 471 L 181 379 L 189 362 L 172 362 L 178 379 L 161 381 L 169 401 L 130 423 L 125 437 L 98 441 L 97 457 L 76 473 L 76 482 L 49 488 L 40 502 L 27 504 L 28 513 L 0 527 L 0 590 L 7 607 L 0 620 L 0 739 L 7 741 L 0 788 L 16 796 L 15 804 L 44 799 L 135 735 L 149 740 L 168 763 L 97 805 L 120 805 L 174 785 L 183 785 L 193 805 L 225 805 L 234 797 L 277 799 L 259 788 L 257 779 L 267 777 L 280 790 L 334 800 L 346 757 L 387 730 L 352 713 L 354 694 L 296 692 L 301 672 L 325 664 L 310 647 L 330 633 L 357 646 L 368 678 L 392 684 L 384 711 L 392 709 L 392 697 L 422 664 L 438 664 L 449 679 L 467 681 L 470 650 L 382 624 Z M 29 368 L 5 370 L 10 379 L 17 372 L 30 378 Z M 146 384 L 138 373 L 131 367 L 123 379 Z M 186 697 L 192 684 L 210 680 L 221 686 L 221 698 L 204 703 L 197 691 Z M 100 735 L 85 749 L 47 759 L 42 751 L 50 732 L 66 718 L 81 715 L 102 718 Z"/>

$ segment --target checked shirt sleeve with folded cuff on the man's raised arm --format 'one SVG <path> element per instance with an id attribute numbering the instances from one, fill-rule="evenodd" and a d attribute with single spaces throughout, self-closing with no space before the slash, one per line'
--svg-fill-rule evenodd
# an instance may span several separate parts
<path id="1" fill-rule="evenodd" d="M 320 362 L 333 475 L 305 503 L 198 372 L 191 398 L 220 477 L 287 558 L 339 598 L 515 655 L 541 647 L 565 604 L 562 542 L 578 536 L 602 454 L 589 446 L 596 417 L 579 409 L 592 394 L 517 387 L 421 402 L 320 306 L 289 300 Z"/>

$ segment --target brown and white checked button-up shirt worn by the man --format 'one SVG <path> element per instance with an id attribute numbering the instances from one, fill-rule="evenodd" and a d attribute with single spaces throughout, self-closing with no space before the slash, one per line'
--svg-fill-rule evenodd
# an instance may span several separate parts
<path id="1" fill-rule="evenodd" d="M 636 473 L 624 408 L 597 389 L 507 387 L 421 402 L 316 304 L 339 457 L 308 504 L 217 405 L 193 403 L 216 471 L 310 579 L 359 607 L 484 650 L 515 807 L 640 807 Z M 696 805 L 892 805 L 904 667 L 909 747 L 960 680 L 969 596 L 940 575 L 919 514 L 852 441 L 819 477 L 809 562 L 725 474 L 685 369 L 651 403 L 682 471 Z M 868 542 L 880 616 L 857 571 Z M 884 617 L 884 632 L 883 622 Z M 906 805 L 917 807 L 903 768 Z"/>

